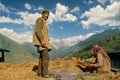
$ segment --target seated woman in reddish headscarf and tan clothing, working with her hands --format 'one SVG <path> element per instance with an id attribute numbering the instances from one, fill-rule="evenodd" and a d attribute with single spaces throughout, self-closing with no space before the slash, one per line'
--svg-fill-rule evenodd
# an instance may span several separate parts
<path id="1" fill-rule="evenodd" d="M 96 54 L 96 61 L 93 64 L 89 64 L 89 68 L 95 67 L 100 73 L 110 73 L 111 65 L 110 58 L 107 53 L 98 45 L 94 45 L 91 49 L 92 54 Z"/>

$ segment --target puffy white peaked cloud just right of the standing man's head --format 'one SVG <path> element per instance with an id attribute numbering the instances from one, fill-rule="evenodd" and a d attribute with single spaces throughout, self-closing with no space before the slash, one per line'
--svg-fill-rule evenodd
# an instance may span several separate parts
<path id="1" fill-rule="evenodd" d="M 48 23 L 51 24 L 54 21 L 55 22 L 59 22 L 59 21 L 74 22 L 76 20 L 77 20 L 77 17 L 69 13 L 68 6 L 57 3 L 55 14 L 50 12 Z"/>

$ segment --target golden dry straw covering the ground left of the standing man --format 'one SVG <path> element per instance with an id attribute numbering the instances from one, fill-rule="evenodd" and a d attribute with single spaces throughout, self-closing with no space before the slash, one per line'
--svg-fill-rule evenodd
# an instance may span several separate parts
<path id="1" fill-rule="evenodd" d="M 0 80 L 42 80 L 32 71 L 34 63 L 0 63 Z"/>

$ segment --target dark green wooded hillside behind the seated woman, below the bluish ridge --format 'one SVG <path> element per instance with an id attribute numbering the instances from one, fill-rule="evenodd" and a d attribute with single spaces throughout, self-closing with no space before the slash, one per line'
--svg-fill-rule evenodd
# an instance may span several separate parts
<path id="1" fill-rule="evenodd" d="M 101 46 L 106 52 L 119 51 L 120 50 L 120 35 L 100 40 L 99 42 L 94 43 L 94 44 Z M 73 53 L 71 56 L 79 57 L 81 59 L 88 58 L 91 56 L 90 49 L 93 45 L 91 44 L 83 48 L 82 50 L 79 50 L 78 52 Z"/>

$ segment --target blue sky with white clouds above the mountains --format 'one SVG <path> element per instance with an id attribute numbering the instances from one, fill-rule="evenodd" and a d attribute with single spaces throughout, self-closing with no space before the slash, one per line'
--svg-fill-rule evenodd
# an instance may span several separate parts
<path id="1" fill-rule="evenodd" d="M 0 33 L 18 42 L 32 42 L 42 10 L 51 44 L 70 47 L 93 34 L 120 28 L 120 0 L 0 0 Z"/>

